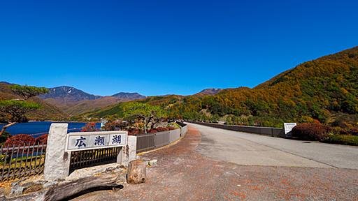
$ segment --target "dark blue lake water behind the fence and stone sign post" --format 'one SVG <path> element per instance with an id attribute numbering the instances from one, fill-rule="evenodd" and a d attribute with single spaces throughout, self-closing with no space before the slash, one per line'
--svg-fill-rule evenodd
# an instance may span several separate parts
<path id="1" fill-rule="evenodd" d="M 17 134 L 32 134 L 36 135 L 43 135 L 48 133 L 50 130 L 50 126 L 52 123 L 59 123 L 59 122 L 52 122 L 52 121 L 31 121 L 28 123 L 17 123 L 13 126 L 6 128 L 6 132 L 10 133 L 11 135 Z M 61 122 L 69 124 L 69 132 L 78 132 L 81 130 L 83 126 L 87 123 L 83 122 Z M 0 124 L 0 128 L 2 128 L 5 124 Z M 96 128 L 101 128 L 100 123 L 96 123 Z"/>

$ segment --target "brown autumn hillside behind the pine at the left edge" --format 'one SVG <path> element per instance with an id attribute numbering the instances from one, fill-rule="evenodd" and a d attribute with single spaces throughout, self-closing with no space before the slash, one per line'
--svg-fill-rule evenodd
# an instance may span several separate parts
<path id="1" fill-rule="evenodd" d="M 17 96 L 16 94 L 13 93 L 13 91 L 11 91 L 9 85 L 10 83 L 8 82 L 0 82 L 0 100 L 10 100 L 15 98 L 20 98 L 20 96 Z M 64 114 L 62 110 L 59 110 L 59 108 L 55 107 L 54 105 L 50 105 L 49 103 L 46 103 L 40 98 L 37 97 L 31 98 L 30 101 L 39 103 L 41 107 L 34 112 L 29 112 L 29 114 L 26 114 L 26 117 L 29 120 L 48 120 L 48 119 L 62 120 L 67 118 L 67 115 Z M 1 121 L 1 117 L 0 117 L 0 121 Z"/>

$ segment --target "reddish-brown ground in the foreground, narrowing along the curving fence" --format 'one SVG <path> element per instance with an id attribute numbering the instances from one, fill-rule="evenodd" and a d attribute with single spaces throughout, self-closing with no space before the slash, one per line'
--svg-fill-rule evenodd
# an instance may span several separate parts
<path id="1" fill-rule="evenodd" d="M 147 181 L 74 200 L 358 200 L 358 170 L 237 165 L 199 154 L 189 127 L 177 144 L 142 156 L 157 159 Z"/>

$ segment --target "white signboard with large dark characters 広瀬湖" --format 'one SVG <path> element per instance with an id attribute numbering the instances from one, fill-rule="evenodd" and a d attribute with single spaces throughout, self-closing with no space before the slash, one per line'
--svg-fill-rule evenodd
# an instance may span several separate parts
<path id="1" fill-rule="evenodd" d="M 127 131 L 78 132 L 67 134 L 66 151 L 122 147 L 127 145 Z"/>

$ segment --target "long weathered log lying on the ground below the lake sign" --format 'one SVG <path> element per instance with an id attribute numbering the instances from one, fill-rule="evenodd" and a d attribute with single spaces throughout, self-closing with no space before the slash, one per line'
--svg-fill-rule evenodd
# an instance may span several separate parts
<path id="1" fill-rule="evenodd" d="M 86 177 L 49 188 L 45 193 L 43 200 L 64 200 L 73 197 L 73 195 L 79 195 L 81 192 L 89 191 L 91 189 L 104 187 L 115 188 L 121 184 L 123 183 L 120 181 L 120 178 L 118 178 L 118 174 L 115 174 L 114 172 L 101 174 L 96 177 Z"/>

